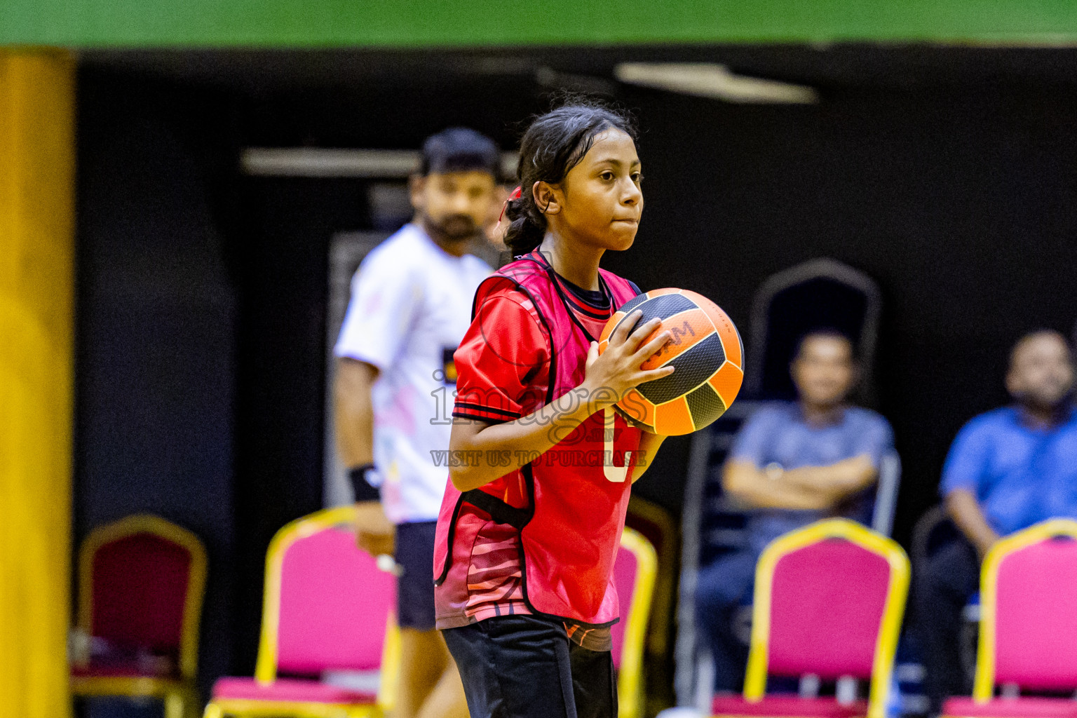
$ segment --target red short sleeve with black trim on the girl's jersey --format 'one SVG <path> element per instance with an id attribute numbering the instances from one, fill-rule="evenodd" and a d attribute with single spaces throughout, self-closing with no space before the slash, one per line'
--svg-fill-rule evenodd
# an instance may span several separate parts
<path id="1" fill-rule="evenodd" d="M 549 355 L 546 333 L 526 294 L 509 282 L 480 287 L 474 319 L 453 355 L 452 416 L 504 423 L 531 413 L 545 403 Z"/>

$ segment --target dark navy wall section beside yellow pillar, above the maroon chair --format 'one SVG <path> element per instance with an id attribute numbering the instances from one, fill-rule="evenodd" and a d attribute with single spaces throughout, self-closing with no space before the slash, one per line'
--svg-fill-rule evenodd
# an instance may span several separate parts
<path id="1" fill-rule="evenodd" d="M 230 153 L 200 130 L 222 107 L 152 83 L 80 90 L 74 538 L 145 511 L 205 541 L 205 684 L 232 664 L 236 567 L 240 325 L 213 212 Z"/>

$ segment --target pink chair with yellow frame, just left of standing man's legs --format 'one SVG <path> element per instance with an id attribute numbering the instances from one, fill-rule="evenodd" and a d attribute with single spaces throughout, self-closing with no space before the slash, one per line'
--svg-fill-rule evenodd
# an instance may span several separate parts
<path id="1" fill-rule="evenodd" d="M 255 675 L 218 680 L 207 718 L 374 718 L 390 708 L 400 656 L 395 583 L 355 546 L 354 518 L 352 506 L 341 506 L 277 532 L 266 555 Z M 377 690 L 324 679 L 378 671 Z"/>

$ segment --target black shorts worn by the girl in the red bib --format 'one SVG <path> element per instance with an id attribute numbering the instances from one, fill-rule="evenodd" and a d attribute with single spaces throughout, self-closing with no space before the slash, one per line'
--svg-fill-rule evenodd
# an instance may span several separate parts
<path id="1" fill-rule="evenodd" d="M 472 718 L 615 718 L 610 651 L 573 644 L 564 624 L 496 616 L 442 631 Z"/>

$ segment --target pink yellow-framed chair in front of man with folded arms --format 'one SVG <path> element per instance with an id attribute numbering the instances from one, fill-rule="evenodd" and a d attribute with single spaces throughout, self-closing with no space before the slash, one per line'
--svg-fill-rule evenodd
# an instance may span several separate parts
<path id="1" fill-rule="evenodd" d="M 853 521 L 774 539 L 756 567 L 744 693 L 716 696 L 713 714 L 883 718 L 908 588 L 901 547 Z M 868 680 L 869 696 L 765 695 L 768 675 Z"/>

